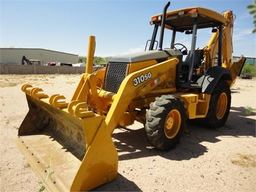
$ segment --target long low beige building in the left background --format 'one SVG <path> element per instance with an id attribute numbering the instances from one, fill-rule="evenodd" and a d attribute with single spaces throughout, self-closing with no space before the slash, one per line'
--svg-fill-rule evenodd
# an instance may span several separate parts
<path id="1" fill-rule="evenodd" d="M 23 55 L 25 55 L 27 59 L 41 60 L 42 65 L 45 65 L 49 61 L 58 61 L 64 63 L 78 62 L 78 55 L 76 54 L 45 49 L 0 48 L 0 63 L 21 65 Z M 27 65 L 26 62 L 25 65 Z"/>

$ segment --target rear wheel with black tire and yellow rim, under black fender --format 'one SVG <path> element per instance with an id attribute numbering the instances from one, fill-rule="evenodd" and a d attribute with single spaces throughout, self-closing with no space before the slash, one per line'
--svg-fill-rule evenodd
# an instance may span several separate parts
<path id="1" fill-rule="evenodd" d="M 227 121 L 231 105 L 231 92 L 225 81 L 220 81 L 215 86 L 205 118 L 197 119 L 199 125 L 217 128 Z"/>

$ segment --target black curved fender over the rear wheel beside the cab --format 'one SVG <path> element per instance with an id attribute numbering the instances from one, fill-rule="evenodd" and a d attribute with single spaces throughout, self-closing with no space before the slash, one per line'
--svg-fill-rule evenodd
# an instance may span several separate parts
<path id="1" fill-rule="evenodd" d="M 220 79 L 232 81 L 231 72 L 229 69 L 215 66 L 206 70 L 203 76 L 197 80 L 197 83 L 202 86 L 203 93 L 211 94 Z"/>

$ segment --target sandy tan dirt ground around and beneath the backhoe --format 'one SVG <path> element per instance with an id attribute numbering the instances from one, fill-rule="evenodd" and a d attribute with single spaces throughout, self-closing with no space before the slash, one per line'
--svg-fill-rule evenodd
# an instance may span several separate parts
<path id="1" fill-rule="evenodd" d="M 78 81 L 79 75 L 0 75 L 1 191 L 42 186 L 13 141 L 28 112 L 21 86 L 70 99 Z M 190 123 L 190 133 L 170 151 L 150 147 L 140 123 L 116 129 L 118 177 L 94 191 L 256 191 L 255 83 L 238 78 L 226 124 L 212 130 Z"/>

